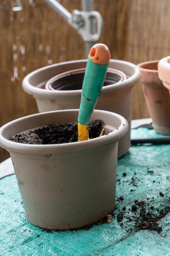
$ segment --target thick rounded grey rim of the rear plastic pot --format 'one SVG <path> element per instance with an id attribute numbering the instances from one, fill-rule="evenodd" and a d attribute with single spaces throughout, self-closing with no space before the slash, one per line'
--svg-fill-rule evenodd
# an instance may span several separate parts
<path id="1" fill-rule="evenodd" d="M 63 63 L 57 63 L 53 64 L 50 66 L 42 67 L 40 69 L 37 69 L 31 73 L 29 73 L 22 81 L 22 87 L 25 92 L 28 94 L 31 94 L 35 98 L 46 98 L 46 99 L 56 99 L 56 98 L 70 98 L 70 97 L 76 97 L 76 96 L 81 96 L 82 90 L 70 90 L 70 91 L 59 91 L 59 90 L 45 90 L 41 88 L 37 88 L 29 83 L 29 80 L 31 77 L 36 75 L 39 72 L 43 71 L 48 71 L 52 67 L 57 67 L 58 65 L 66 65 L 66 64 L 72 64 L 72 63 L 82 63 L 82 62 L 87 62 L 87 59 L 82 59 L 82 60 L 76 60 L 76 61 L 67 61 Z M 115 63 L 115 64 L 124 64 L 128 66 L 128 68 L 131 68 L 134 73 L 130 77 L 128 77 L 126 80 L 123 80 L 122 82 L 118 82 L 117 84 L 112 84 L 112 85 L 107 85 L 104 86 L 101 90 L 101 95 L 102 94 L 109 94 L 112 92 L 120 91 L 129 87 L 133 87 L 136 82 L 138 82 L 141 78 L 141 71 L 140 68 L 137 67 L 137 65 L 130 63 L 128 61 L 121 61 L 121 60 L 114 60 L 111 59 L 110 63 Z M 41 81 L 42 82 L 42 81 Z M 40 82 L 40 83 L 41 83 Z"/>

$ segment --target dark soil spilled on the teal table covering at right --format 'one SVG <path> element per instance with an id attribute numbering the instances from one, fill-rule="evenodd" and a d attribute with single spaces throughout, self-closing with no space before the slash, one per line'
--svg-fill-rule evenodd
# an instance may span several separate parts
<path id="1" fill-rule="evenodd" d="M 147 168 L 146 175 L 151 174 L 153 177 L 153 183 L 155 183 L 154 180 L 154 171 L 149 170 Z M 137 178 L 137 173 L 135 172 L 132 177 L 129 177 L 128 180 L 124 179 L 124 177 L 128 177 L 128 173 L 126 176 L 126 173 L 122 174 L 121 179 L 117 179 L 117 185 L 123 185 L 123 183 L 128 182 L 128 185 L 133 185 L 138 187 L 138 181 L 140 181 Z M 166 179 L 169 179 L 168 176 L 166 176 Z M 160 183 L 160 181 L 158 182 Z M 131 192 L 132 189 L 130 189 Z M 152 191 L 152 189 L 151 189 Z M 122 210 L 118 210 L 118 214 L 116 215 L 117 221 L 120 222 L 120 227 L 124 228 L 128 233 L 129 232 L 138 232 L 139 230 L 156 230 L 157 232 L 161 232 L 163 225 L 159 220 L 164 218 L 168 213 L 170 213 L 170 206 L 166 206 L 165 208 L 159 209 L 155 208 L 153 206 L 154 202 L 154 196 L 147 197 L 143 200 L 134 200 L 134 203 L 129 208 L 124 206 L 124 201 L 120 200 L 120 197 L 117 197 L 116 199 L 116 208 L 122 208 Z M 164 198 L 164 194 L 162 191 L 158 192 L 157 197 Z M 170 197 L 169 197 L 170 200 Z M 129 201 L 130 203 L 130 201 Z M 164 204 L 161 203 L 160 206 L 163 206 Z M 127 209 L 126 209 L 127 208 Z M 127 225 L 126 225 L 127 223 Z M 133 225 L 132 228 L 128 228 L 129 224 Z M 166 224 L 169 226 L 169 223 Z"/>

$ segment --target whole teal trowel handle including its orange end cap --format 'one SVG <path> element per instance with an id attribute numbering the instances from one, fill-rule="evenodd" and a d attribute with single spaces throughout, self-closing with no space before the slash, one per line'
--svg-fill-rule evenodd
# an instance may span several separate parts
<path id="1" fill-rule="evenodd" d="M 95 44 L 89 53 L 82 86 L 78 123 L 88 125 L 107 73 L 111 53 L 106 45 Z"/>

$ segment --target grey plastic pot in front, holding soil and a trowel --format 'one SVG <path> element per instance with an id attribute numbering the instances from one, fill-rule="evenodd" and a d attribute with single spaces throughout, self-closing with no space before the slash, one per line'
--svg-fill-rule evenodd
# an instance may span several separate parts
<path id="1" fill-rule="evenodd" d="M 108 135 L 75 143 L 22 144 L 9 137 L 50 123 L 77 123 L 79 110 L 39 113 L 0 128 L 0 146 L 12 158 L 27 219 L 47 229 L 80 228 L 101 220 L 115 207 L 118 140 L 126 119 L 94 110 Z"/>

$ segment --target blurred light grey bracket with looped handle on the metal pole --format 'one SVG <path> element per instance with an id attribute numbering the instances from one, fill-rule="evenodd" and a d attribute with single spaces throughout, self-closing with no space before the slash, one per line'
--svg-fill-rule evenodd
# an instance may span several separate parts
<path id="1" fill-rule="evenodd" d="M 96 23 L 96 32 L 93 34 L 91 31 L 92 20 Z M 73 10 L 71 18 L 67 22 L 72 26 L 80 36 L 82 36 L 85 42 L 97 41 L 99 40 L 102 29 L 103 29 L 103 19 L 99 12 L 97 11 L 78 11 Z"/>

